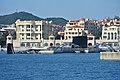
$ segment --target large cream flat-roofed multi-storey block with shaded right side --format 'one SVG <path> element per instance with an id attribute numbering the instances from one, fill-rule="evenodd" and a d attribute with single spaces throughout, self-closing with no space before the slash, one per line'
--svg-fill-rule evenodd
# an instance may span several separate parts
<path id="1" fill-rule="evenodd" d="M 18 47 L 41 47 L 42 40 L 48 39 L 52 32 L 52 25 L 48 21 L 21 21 L 17 20 L 16 40 Z"/>

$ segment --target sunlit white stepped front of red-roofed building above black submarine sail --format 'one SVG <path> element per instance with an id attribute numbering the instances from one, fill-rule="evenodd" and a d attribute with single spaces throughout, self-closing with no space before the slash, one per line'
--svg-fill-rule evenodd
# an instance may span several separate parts
<path id="1" fill-rule="evenodd" d="M 85 28 L 85 19 L 69 20 L 65 26 L 65 40 L 72 39 L 74 36 L 81 36 Z"/>

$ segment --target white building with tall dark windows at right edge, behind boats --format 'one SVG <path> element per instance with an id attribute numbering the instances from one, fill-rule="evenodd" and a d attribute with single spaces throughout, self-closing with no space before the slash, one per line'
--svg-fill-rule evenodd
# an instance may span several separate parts
<path id="1" fill-rule="evenodd" d="M 103 26 L 101 42 L 117 46 L 119 40 L 118 36 L 120 35 L 119 28 L 120 26 L 118 25 Z"/>

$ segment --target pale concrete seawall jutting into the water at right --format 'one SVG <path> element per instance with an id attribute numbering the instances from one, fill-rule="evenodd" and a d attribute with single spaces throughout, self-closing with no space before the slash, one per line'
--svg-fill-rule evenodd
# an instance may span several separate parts
<path id="1" fill-rule="evenodd" d="M 101 60 L 120 60 L 120 52 L 100 52 Z"/>

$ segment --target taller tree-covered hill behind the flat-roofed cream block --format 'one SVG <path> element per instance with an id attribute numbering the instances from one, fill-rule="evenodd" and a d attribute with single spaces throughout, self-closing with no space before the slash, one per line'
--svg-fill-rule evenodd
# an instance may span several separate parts
<path id="1" fill-rule="evenodd" d="M 17 19 L 20 19 L 20 20 L 42 20 L 42 18 L 34 16 L 31 13 L 15 12 L 13 14 L 0 16 L 0 24 L 12 24 Z"/>

